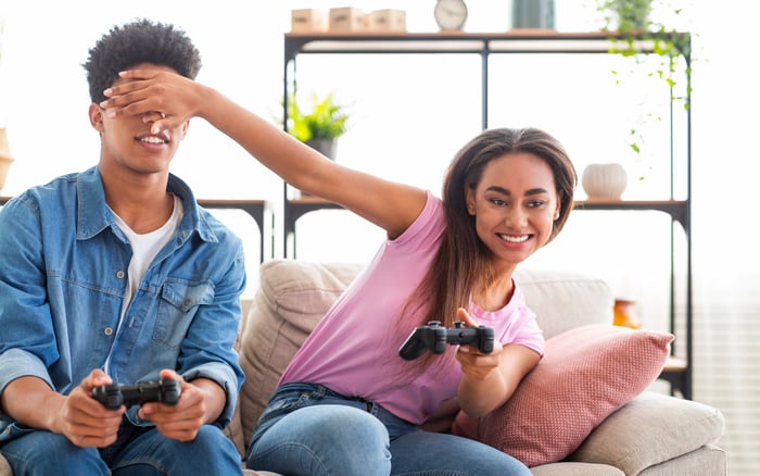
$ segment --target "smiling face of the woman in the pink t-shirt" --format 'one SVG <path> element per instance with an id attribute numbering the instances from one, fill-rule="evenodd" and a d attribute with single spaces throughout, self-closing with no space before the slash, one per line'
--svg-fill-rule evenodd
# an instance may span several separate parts
<path id="1" fill-rule="evenodd" d="M 552 168 L 523 152 L 492 160 L 466 197 L 478 236 L 505 271 L 546 245 L 560 209 Z"/>

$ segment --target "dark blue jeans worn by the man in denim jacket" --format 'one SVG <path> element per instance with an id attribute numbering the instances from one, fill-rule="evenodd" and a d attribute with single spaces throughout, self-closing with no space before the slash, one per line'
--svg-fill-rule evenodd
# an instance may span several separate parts
<path id="1" fill-rule="evenodd" d="M 0 447 L 15 475 L 235 475 L 240 453 L 221 430 L 203 425 L 192 441 L 162 436 L 155 427 L 122 424 L 106 448 L 81 448 L 65 436 L 35 430 Z"/>

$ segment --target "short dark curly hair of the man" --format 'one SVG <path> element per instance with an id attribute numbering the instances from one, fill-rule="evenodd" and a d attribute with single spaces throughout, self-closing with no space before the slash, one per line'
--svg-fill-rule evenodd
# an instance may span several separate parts
<path id="1" fill-rule="evenodd" d="M 187 34 L 173 25 L 142 18 L 114 26 L 90 49 L 83 64 L 92 102 L 105 99 L 103 90 L 113 85 L 121 71 L 141 63 L 168 66 L 195 79 L 201 70 L 201 53 Z"/>

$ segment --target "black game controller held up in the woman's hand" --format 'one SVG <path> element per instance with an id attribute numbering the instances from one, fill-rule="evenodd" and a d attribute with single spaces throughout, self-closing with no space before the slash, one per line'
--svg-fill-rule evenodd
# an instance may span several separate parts
<path id="1" fill-rule="evenodd" d="M 485 326 L 465 327 L 461 321 L 454 323 L 454 327 L 446 328 L 440 322 L 431 321 L 427 326 L 419 326 L 409 334 L 398 349 L 398 355 L 413 361 L 422 356 L 426 350 L 443 353 L 446 343 L 474 346 L 481 353 L 491 353 L 494 350 L 494 329 Z"/>

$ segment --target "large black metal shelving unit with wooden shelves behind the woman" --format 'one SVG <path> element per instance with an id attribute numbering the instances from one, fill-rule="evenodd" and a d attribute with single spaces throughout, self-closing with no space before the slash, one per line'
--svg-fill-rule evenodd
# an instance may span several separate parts
<path id="1" fill-rule="evenodd" d="M 673 35 L 673 34 L 671 34 Z M 689 45 L 691 37 L 687 33 L 674 34 L 680 36 L 682 45 Z M 477 54 L 480 57 L 481 68 L 481 125 L 489 127 L 489 60 L 493 54 L 509 53 L 555 53 L 555 54 L 612 54 L 611 48 L 619 42 L 628 41 L 615 33 L 557 33 L 553 30 L 515 30 L 509 33 L 419 33 L 419 34 L 365 34 L 365 33 L 316 33 L 316 34 L 286 34 L 284 35 L 284 63 L 283 63 L 283 124 L 288 118 L 288 101 L 296 87 L 296 60 L 301 54 L 330 53 L 330 54 Z M 653 52 L 654 41 L 634 37 L 634 47 L 637 51 Z M 691 58 L 688 51 L 683 54 L 685 73 L 691 75 Z M 691 84 L 691 78 L 686 78 Z M 666 213 L 672 221 L 671 228 L 671 276 L 670 276 L 670 328 L 675 334 L 677 328 L 676 315 L 683 313 L 685 323 L 683 355 L 672 356 L 661 374 L 661 378 L 671 385 L 671 392 L 680 392 L 684 398 L 692 398 L 692 330 L 693 330 L 693 298 L 692 298 L 692 101 L 691 90 L 686 90 L 687 108 L 685 111 L 685 198 L 673 198 L 674 172 L 671 172 L 671 197 L 668 200 L 645 201 L 580 201 L 577 210 L 641 210 L 658 211 Z M 672 114 L 672 108 L 671 108 Z M 670 164 L 673 171 L 673 131 L 671 116 L 671 156 Z M 325 210 L 341 209 L 340 205 L 314 197 L 291 199 L 289 198 L 289 185 L 283 184 L 283 253 L 286 256 L 295 256 L 295 225 L 297 220 L 306 213 Z M 684 302 L 676 305 L 676 264 L 674 262 L 673 231 L 681 228 L 685 235 L 685 283 Z"/>

